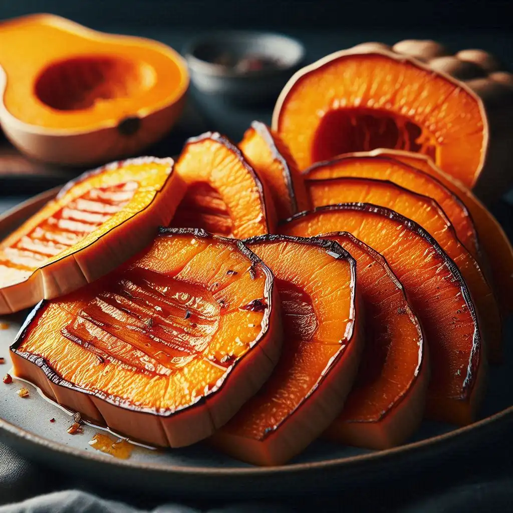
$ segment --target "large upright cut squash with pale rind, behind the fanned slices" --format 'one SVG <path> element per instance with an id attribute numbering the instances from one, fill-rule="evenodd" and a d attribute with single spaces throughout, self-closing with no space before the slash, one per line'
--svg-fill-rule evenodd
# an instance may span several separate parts
<path id="1" fill-rule="evenodd" d="M 335 155 L 396 148 L 429 155 L 472 187 L 488 126 L 479 96 L 449 75 L 384 49 L 336 52 L 298 71 L 272 129 L 300 169 Z"/>

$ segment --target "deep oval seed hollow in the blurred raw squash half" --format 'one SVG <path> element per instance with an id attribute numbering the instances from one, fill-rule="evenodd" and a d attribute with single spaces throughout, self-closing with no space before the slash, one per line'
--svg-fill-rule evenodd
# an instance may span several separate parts
<path id="1" fill-rule="evenodd" d="M 155 72 L 143 62 L 110 56 L 80 56 L 50 64 L 35 82 L 35 94 L 56 110 L 84 110 L 131 98 L 150 89 Z"/>

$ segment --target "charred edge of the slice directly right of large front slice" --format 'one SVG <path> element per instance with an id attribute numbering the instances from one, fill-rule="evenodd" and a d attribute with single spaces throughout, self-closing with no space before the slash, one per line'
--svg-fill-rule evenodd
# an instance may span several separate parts
<path id="1" fill-rule="evenodd" d="M 349 262 L 349 266 L 351 268 L 351 284 L 353 285 L 351 290 L 351 310 L 350 310 L 350 322 L 351 322 L 351 332 L 349 337 L 347 338 L 347 344 L 351 343 L 354 335 L 354 324 L 357 322 L 357 312 L 358 304 L 357 304 L 357 281 L 356 281 L 356 260 L 351 256 L 351 254 L 345 250 L 338 242 L 330 241 L 326 239 L 322 239 L 320 237 L 298 237 L 298 236 L 290 236 L 290 235 L 279 235 L 279 234 L 265 234 L 265 235 L 257 235 L 254 237 L 250 237 L 249 239 L 244 239 L 244 244 L 265 244 L 266 242 L 294 242 L 298 244 L 304 244 L 307 246 L 317 246 L 326 251 L 334 260 L 344 259 Z M 286 342 L 284 341 L 284 344 Z M 290 411 L 289 415 L 285 419 L 283 419 L 278 424 L 274 425 L 271 429 L 267 430 L 260 441 L 265 440 L 267 437 L 271 436 L 274 432 L 276 432 L 280 426 L 285 424 L 290 417 L 298 411 L 308 399 L 310 399 L 315 391 L 322 385 L 323 381 L 327 379 L 329 373 L 333 370 L 333 367 L 336 363 L 344 356 L 344 351 L 341 352 L 342 346 L 338 349 L 336 356 L 333 356 L 328 361 L 328 368 L 324 368 L 321 377 L 315 382 L 314 386 L 310 389 L 308 394 L 300 401 L 300 403 Z M 345 349 L 345 347 L 344 347 Z M 265 386 L 265 385 L 264 385 Z M 257 392 L 258 393 L 258 392 Z"/>

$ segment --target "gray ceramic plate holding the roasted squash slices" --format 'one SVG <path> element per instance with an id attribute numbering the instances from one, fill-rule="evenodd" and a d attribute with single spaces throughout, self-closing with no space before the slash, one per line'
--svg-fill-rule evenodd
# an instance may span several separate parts
<path id="1" fill-rule="evenodd" d="M 0 216 L 0 236 L 14 229 L 55 194 L 35 196 Z M 0 330 L 0 356 L 8 357 L 13 341 L 27 312 L 1 319 L 9 327 Z M 513 319 L 504 327 L 504 339 L 513 338 Z M 289 464 L 274 468 L 247 465 L 216 452 L 205 444 L 184 449 L 156 451 L 135 447 L 132 456 L 120 460 L 93 449 L 89 441 L 98 428 L 85 426 L 83 435 L 69 435 L 70 414 L 45 400 L 34 387 L 14 379 L 11 385 L 0 383 L 0 438 L 30 458 L 60 468 L 80 468 L 83 475 L 105 484 L 137 486 L 146 492 L 180 493 L 198 498 L 236 495 L 238 497 L 290 495 L 340 489 L 365 480 L 371 483 L 394 472 L 436 465 L 447 458 L 466 461 L 469 452 L 484 440 L 505 440 L 513 427 L 513 346 L 506 346 L 506 361 L 491 369 L 482 420 L 461 429 L 423 423 L 415 439 L 402 447 L 369 451 L 323 441 L 314 442 Z M 510 346 L 510 347 L 508 347 Z M 8 360 L 8 358 L 7 358 Z M 2 373 L 9 370 L 7 361 Z M 26 386 L 30 397 L 18 397 Z M 51 423 L 50 419 L 55 422 Z M 504 437 L 504 438 L 502 438 Z"/>

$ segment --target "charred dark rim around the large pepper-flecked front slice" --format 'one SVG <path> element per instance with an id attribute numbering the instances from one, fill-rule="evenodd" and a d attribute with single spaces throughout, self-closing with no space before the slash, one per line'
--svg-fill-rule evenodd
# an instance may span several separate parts
<path id="1" fill-rule="evenodd" d="M 202 239 L 213 239 L 216 241 L 220 241 L 226 244 L 231 244 L 236 246 L 251 262 L 254 264 L 260 265 L 262 267 L 262 270 L 264 271 L 265 277 L 266 277 L 266 284 L 264 287 L 264 294 L 267 299 L 269 308 L 267 308 L 264 312 L 263 319 L 262 319 L 262 330 L 260 331 L 258 337 L 254 340 L 253 344 L 250 346 L 250 348 L 246 351 L 244 356 L 242 358 L 238 358 L 235 360 L 235 362 L 226 369 L 225 374 L 223 378 L 221 378 L 222 382 L 221 384 L 216 384 L 214 387 L 212 387 L 211 390 L 209 390 L 206 394 L 204 394 L 201 399 L 196 401 L 193 404 L 184 405 L 179 408 L 174 409 L 165 409 L 163 412 L 155 412 L 151 410 L 150 408 L 142 408 L 139 406 L 135 406 L 131 403 L 128 403 L 128 401 L 123 401 L 120 398 L 109 398 L 107 394 L 100 391 L 91 391 L 84 389 L 82 387 L 76 386 L 69 381 L 66 381 L 63 379 L 60 374 L 58 374 L 42 357 L 37 357 L 32 353 L 28 352 L 22 352 L 18 351 L 19 345 L 23 343 L 25 340 L 25 337 L 27 335 L 27 331 L 30 328 L 30 323 L 33 321 L 33 319 L 36 317 L 37 313 L 40 311 L 40 309 L 48 303 L 48 300 L 40 301 L 34 309 L 29 313 L 27 319 L 23 323 L 22 327 L 19 329 L 18 333 L 16 334 L 16 338 L 14 339 L 14 342 L 9 347 L 9 350 L 13 353 L 17 354 L 19 357 L 24 358 L 25 360 L 28 360 L 30 363 L 35 365 L 36 367 L 39 367 L 44 373 L 46 378 L 51 381 L 53 384 L 65 387 L 67 389 L 71 389 L 77 392 L 82 392 L 87 394 L 88 396 L 93 396 L 97 399 L 101 399 L 102 401 L 105 401 L 106 403 L 112 404 L 113 406 L 118 406 L 121 408 L 125 408 L 128 410 L 132 410 L 139 413 L 147 413 L 148 415 L 154 415 L 156 417 L 170 417 L 174 415 L 175 413 L 191 408 L 196 408 L 200 406 L 204 406 L 205 402 L 208 397 L 212 396 L 216 392 L 223 389 L 223 387 L 228 382 L 228 385 L 230 384 L 230 376 L 233 373 L 233 369 L 241 363 L 247 356 L 249 356 L 250 351 L 254 351 L 255 349 L 258 349 L 259 342 L 266 336 L 266 334 L 269 331 L 269 318 L 271 315 L 271 310 L 273 308 L 272 305 L 272 291 L 274 288 L 274 277 L 270 269 L 260 260 L 257 255 L 255 255 L 247 246 L 244 245 L 244 243 L 238 239 L 228 239 L 226 237 L 222 237 L 219 235 L 213 235 L 211 233 L 208 233 L 207 231 L 201 229 L 201 228 L 165 228 L 161 226 L 159 228 L 159 234 L 157 236 L 171 236 L 171 235 L 193 235 L 198 238 Z M 265 353 L 264 353 L 265 354 Z M 267 357 L 267 356 L 266 356 Z M 219 381 L 219 380 L 218 380 Z M 162 408 L 164 409 L 164 408 Z"/>

